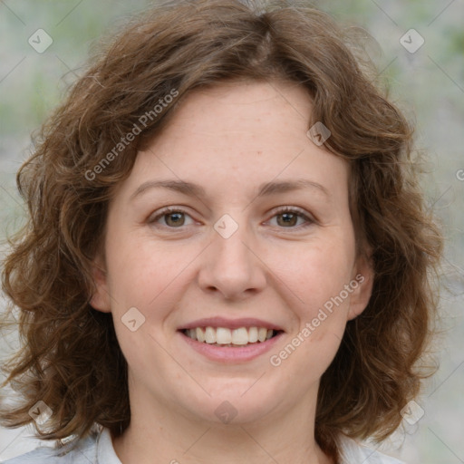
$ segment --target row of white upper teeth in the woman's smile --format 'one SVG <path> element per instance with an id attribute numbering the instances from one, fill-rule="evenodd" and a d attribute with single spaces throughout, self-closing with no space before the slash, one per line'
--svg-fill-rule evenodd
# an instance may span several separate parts
<path id="1" fill-rule="evenodd" d="M 240 327 L 227 329 L 227 327 L 197 327 L 185 331 L 193 340 L 198 342 L 217 344 L 222 346 L 243 346 L 248 343 L 266 342 L 275 331 L 266 327 Z"/>

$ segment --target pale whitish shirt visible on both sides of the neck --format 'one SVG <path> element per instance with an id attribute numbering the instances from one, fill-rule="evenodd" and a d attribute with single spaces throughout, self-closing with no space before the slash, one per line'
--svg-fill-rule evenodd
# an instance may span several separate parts
<path id="1" fill-rule="evenodd" d="M 340 451 L 342 464 L 404 464 L 346 437 L 340 440 Z M 5 464 L 121 464 L 121 460 L 112 446 L 110 430 L 101 428 L 85 439 L 60 448 L 39 447 Z"/>

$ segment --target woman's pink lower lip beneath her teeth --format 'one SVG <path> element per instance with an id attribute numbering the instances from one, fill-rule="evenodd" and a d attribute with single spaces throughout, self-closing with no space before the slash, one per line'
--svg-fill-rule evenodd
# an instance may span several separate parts
<path id="1" fill-rule="evenodd" d="M 244 362 L 255 359 L 261 354 L 268 352 L 284 333 L 277 333 L 274 337 L 269 338 L 265 342 L 251 343 L 241 347 L 217 346 L 209 343 L 198 342 L 182 332 L 179 332 L 179 334 L 182 339 L 189 344 L 189 346 L 198 353 L 203 354 L 211 361 Z"/>

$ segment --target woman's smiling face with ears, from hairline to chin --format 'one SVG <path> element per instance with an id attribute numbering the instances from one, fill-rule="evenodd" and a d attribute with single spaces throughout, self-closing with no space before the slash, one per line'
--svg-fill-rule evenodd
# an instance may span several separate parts
<path id="1" fill-rule="evenodd" d="M 139 152 L 92 297 L 112 313 L 131 407 L 218 424 L 314 407 L 372 272 L 355 255 L 348 166 L 306 135 L 310 114 L 298 85 L 221 83 Z"/>

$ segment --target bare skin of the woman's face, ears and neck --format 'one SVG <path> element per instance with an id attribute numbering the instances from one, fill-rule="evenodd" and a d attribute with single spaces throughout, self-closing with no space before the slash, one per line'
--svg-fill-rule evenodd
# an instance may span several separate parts
<path id="1" fill-rule="evenodd" d="M 113 439 L 123 464 L 332 462 L 314 440 L 319 380 L 345 324 L 369 301 L 372 268 L 355 254 L 346 161 L 308 138 L 310 114 L 308 94 L 291 82 L 196 90 L 118 186 L 92 306 L 112 313 L 129 365 L 131 425 Z M 142 183 L 160 179 L 196 183 L 206 197 L 152 188 L 131 199 Z M 313 187 L 256 198 L 263 182 L 295 179 L 326 193 Z M 174 225 L 172 215 L 155 219 L 169 206 L 187 214 Z M 282 206 L 303 208 L 311 220 L 288 225 L 275 212 Z M 228 238 L 214 228 L 224 214 L 238 226 Z M 270 355 L 358 274 L 362 285 L 271 365 Z M 135 332 L 121 322 L 131 307 L 145 317 Z M 254 360 L 213 362 L 177 330 L 217 315 L 261 318 L 285 334 Z M 227 424 L 215 414 L 223 401 L 237 411 Z"/>

